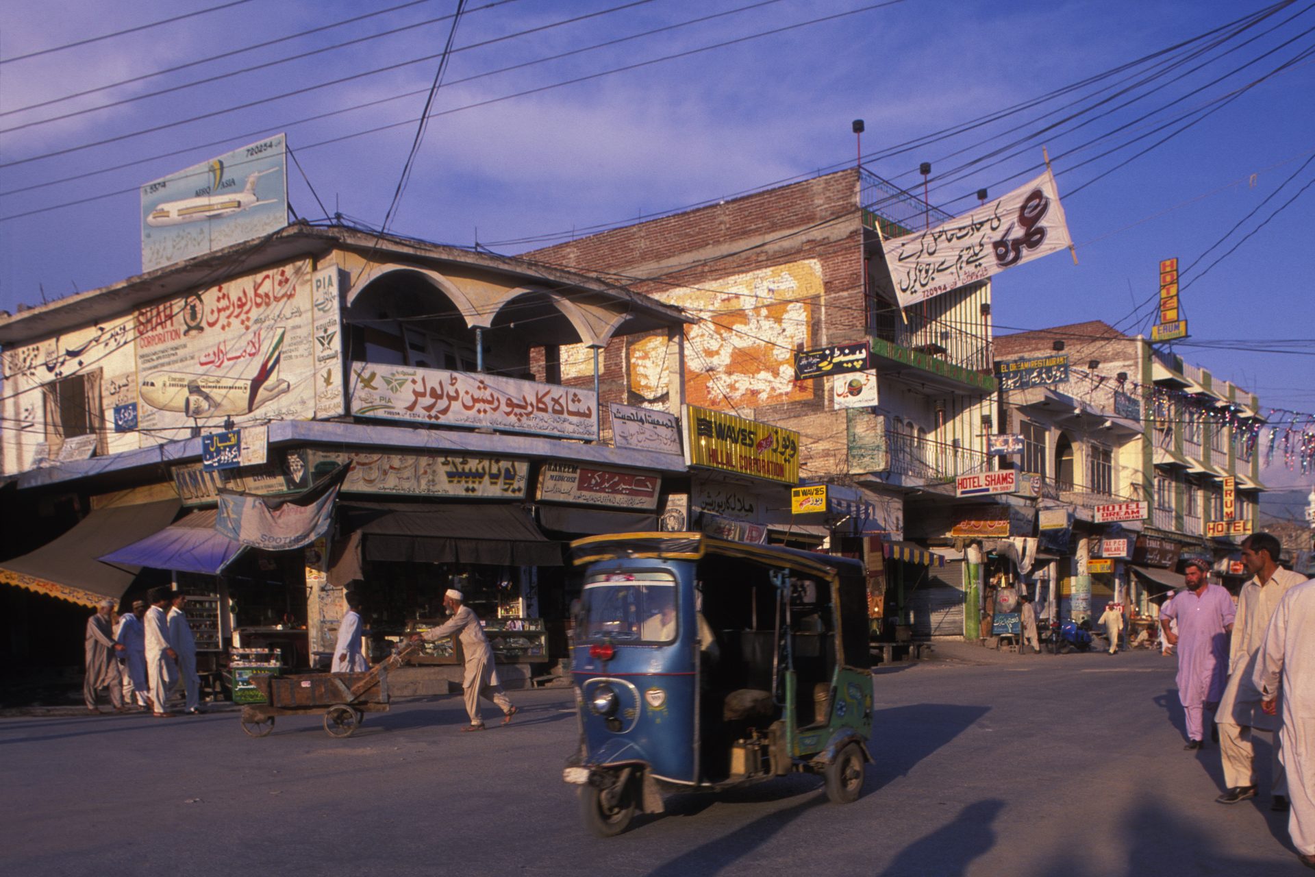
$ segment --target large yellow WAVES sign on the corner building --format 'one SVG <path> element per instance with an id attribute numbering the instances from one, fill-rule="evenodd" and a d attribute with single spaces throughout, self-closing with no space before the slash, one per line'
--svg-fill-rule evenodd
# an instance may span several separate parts
<path id="1" fill-rule="evenodd" d="M 698 405 L 685 406 L 685 462 L 756 479 L 800 483 L 800 434 Z"/>

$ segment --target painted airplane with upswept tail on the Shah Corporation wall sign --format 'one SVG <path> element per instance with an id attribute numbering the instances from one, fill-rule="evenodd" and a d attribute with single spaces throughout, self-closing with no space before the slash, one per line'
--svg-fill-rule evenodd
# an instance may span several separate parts
<path id="1" fill-rule="evenodd" d="M 279 329 L 255 377 L 151 372 L 142 379 L 142 401 L 162 412 L 180 412 L 188 417 L 250 414 L 292 387 L 279 377 L 285 334 L 285 329 Z"/>

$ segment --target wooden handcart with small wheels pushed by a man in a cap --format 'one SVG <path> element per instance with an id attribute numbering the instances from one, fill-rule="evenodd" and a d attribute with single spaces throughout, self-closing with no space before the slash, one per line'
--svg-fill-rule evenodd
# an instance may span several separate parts
<path id="1" fill-rule="evenodd" d="M 249 736 L 264 736 L 274 730 L 276 715 L 305 715 L 322 710 L 329 736 L 351 736 L 366 713 L 388 711 L 388 673 L 414 648 L 416 644 L 408 643 L 367 673 L 254 676 L 251 684 L 266 702 L 242 707 L 242 730 Z"/>

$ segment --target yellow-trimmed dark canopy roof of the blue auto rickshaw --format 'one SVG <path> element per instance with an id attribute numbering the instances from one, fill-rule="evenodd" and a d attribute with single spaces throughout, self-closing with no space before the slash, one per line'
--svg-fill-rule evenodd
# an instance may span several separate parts
<path id="1" fill-rule="evenodd" d="M 661 560 L 700 560 L 707 555 L 739 557 L 773 567 L 785 567 L 823 579 L 840 575 L 863 576 L 863 564 L 849 557 L 836 557 L 784 546 L 756 546 L 747 542 L 718 539 L 702 533 L 613 533 L 585 536 L 571 543 L 571 563 L 583 567 L 598 560 L 630 557 Z"/>

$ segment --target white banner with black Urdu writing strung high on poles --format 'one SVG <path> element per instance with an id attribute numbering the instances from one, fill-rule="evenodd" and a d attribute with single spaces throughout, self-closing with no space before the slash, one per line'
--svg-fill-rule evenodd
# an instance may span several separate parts
<path id="1" fill-rule="evenodd" d="M 886 241 L 882 250 L 896 298 L 907 308 L 1072 245 L 1055 176 L 1047 170 L 935 229 Z"/>

